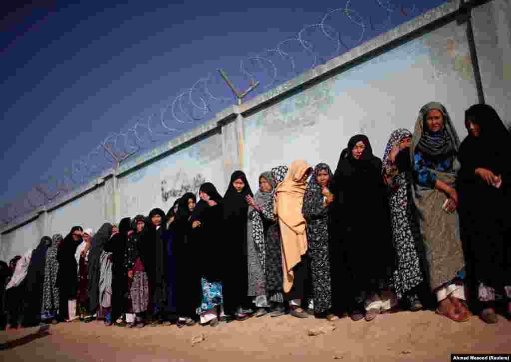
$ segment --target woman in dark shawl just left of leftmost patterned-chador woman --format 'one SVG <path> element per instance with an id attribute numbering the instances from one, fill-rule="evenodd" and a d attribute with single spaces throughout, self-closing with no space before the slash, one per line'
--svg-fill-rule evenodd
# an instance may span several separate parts
<path id="1" fill-rule="evenodd" d="M 44 284 L 44 265 L 46 253 L 52 245 L 50 236 L 43 236 L 30 259 L 27 272 L 27 291 L 25 299 L 25 324 L 35 325 L 41 320 L 42 286 Z"/>

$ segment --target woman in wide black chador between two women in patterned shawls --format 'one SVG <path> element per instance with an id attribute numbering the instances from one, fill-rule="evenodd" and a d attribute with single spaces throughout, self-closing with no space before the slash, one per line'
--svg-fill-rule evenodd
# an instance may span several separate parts
<path id="1" fill-rule="evenodd" d="M 354 320 L 363 318 L 367 309 L 365 318 L 370 321 L 385 308 L 379 291 L 381 282 L 391 276 L 396 253 L 382 161 L 373 155 L 365 135 L 353 136 L 347 149 L 330 185 L 335 197 L 331 210 L 333 299 L 335 309 L 351 309 Z M 366 297 L 370 303 L 364 307 Z"/>

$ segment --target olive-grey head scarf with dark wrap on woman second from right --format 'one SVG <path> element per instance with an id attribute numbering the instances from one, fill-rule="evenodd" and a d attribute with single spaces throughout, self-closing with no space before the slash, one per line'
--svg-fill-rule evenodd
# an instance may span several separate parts
<path id="1" fill-rule="evenodd" d="M 426 124 L 428 112 L 432 110 L 439 111 L 444 117 L 444 127 L 438 132 L 431 132 Z M 410 150 L 411 157 L 415 157 L 415 150 L 428 155 L 430 158 L 438 158 L 455 155 L 458 149 L 458 134 L 444 105 L 438 102 L 431 102 L 423 106 L 415 123 Z"/>

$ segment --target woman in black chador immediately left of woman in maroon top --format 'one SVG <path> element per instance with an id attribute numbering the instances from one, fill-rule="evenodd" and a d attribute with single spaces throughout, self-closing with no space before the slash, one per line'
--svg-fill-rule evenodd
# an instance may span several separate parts
<path id="1" fill-rule="evenodd" d="M 131 230 L 131 219 L 124 218 L 119 223 L 119 233 L 113 235 L 103 250 L 112 253 L 112 310 L 110 322 L 117 322 L 123 313 L 127 311 L 128 276 L 124 268 L 126 252 L 126 240 L 128 231 Z"/>

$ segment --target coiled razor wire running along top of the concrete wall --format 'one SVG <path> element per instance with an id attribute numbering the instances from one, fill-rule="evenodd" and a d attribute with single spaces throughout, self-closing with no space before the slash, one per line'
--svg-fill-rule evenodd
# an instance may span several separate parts
<path id="1" fill-rule="evenodd" d="M 379 17 L 375 19 L 374 14 L 364 16 L 360 9 L 356 9 L 352 0 L 347 0 L 343 7 L 327 12 L 319 22 L 305 25 L 296 36 L 284 39 L 275 47 L 261 53 L 247 55 L 241 59 L 237 79 L 248 80 L 251 85 L 261 81 L 258 91 L 266 91 L 276 83 L 298 75 L 300 71 L 326 63 L 329 59 L 360 45 L 364 40 L 369 40 L 371 32 L 378 35 L 377 33 L 388 30 L 393 17 L 400 16 L 404 21 L 418 15 L 414 4 L 405 7 L 390 0 L 371 1 L 381 12 L 379 15 L 383 19 L 381 27 L 375 25 L 375 20 L 377 21 Z M 360 3 L 357 2 L 357 5 L 362 8 L 363 5 L 360 6 Z M 334 19 L 336 15 L 341 16 L 341 21 Z M 352 25 L 359 29 L 348 32 L 340 30 L 336 25 Z M 328 54 L 321 49 L 317 39 L 313 39 L 312 33 L 318 32 L 322 39 L 329 43 Z M 304 62 L 301 68 L 298 65 L 299 61 Z M 117 133 L 109 133 L 88 154 L 66 167 L 60 177 L 50 176 L 33 185 L 20 199 L 4 205 L 0 209 L 0 222 L 9 224 L 19 216 L 29 214 L 67 192 L 91 182 L 105 170 L 119 166 L 129 157 L 154 147 L 155 143 L 177 136 L 205 117 L 211 116 L 213 104 L 216 103 L 218 107 L 227 102 L 235 102 L 234 95 L 224 96 L 219 94 L 218 90 L 212 90 L 214 79 L 215 73 L 200 78 L 189 89 L 179 92 L 165 102 L 157 112 L 138 118 L 132 126 Z"/>

